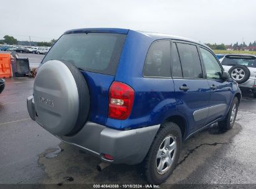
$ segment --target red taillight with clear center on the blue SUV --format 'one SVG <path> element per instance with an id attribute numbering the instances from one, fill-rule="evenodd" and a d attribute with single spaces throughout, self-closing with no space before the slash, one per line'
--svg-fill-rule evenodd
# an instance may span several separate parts
<path id="1" fill-rule="evenodd" d="M 114 81 L 108 98 L 108 117 L 127 119 L 133 107 L 134 90 L 125 83 Z"/>

